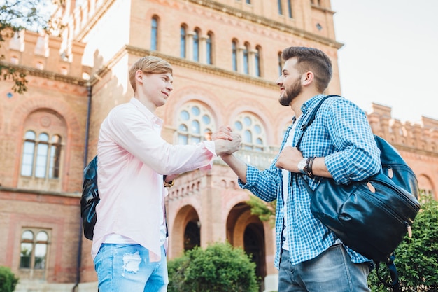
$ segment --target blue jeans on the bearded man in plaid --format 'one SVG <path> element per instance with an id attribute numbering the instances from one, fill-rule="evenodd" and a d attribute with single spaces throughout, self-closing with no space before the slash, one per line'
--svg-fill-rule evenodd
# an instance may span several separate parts
<path id="1" fill-rule="evenodd" d="M 290 264 L 283 250 L 278 272 L 278 292 L 369 292 L 370 263 L 352 263 L 342 244 L 331 246 L 312 260 Z"/>

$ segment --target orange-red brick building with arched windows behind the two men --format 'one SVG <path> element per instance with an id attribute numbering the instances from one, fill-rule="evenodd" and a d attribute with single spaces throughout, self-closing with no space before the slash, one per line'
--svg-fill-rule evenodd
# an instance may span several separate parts
<path id="1" fill-rule="evenodd" d="M 16 291 L 96 291 L 79 216 L 83 168 L 101 121 L 132 97 L 127 71 L 139 57 L 174 68 L 174 91 L 157 111 L 165 139 L 190 144 L 232 125 L 240 157 L 260 168 L 292 120 L 277 100 L 283 48 L 325 51 L 334 65 L 327 92 L 341 93 L 330 0 L 67 0 L 57 13 L 59 36 L 21 32 L 0 48 L 29 81 L 24 95 L 0 83 L 0 265 L 20 277 Z M 401 123 L 379 104 L 368 116 L 438 199 L 438 120 Z M 169 258 L 227 240 L 253 255 L 271 285 L 274 230 L 250 214 L 249 197 L 220 159 L 181 175 L 167 198 Z"/>

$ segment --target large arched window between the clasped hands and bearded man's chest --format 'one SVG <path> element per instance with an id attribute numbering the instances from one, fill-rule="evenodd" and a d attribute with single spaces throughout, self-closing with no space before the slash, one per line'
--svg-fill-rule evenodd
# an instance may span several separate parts
<path id="1" fill-rule="evenodd" d="M 241 113 L 234 122 L 234 130 L 242 137 L 242 148 L 263 151 L 266 144 L 266 131 L 260 120 L 252 113 Z"/>

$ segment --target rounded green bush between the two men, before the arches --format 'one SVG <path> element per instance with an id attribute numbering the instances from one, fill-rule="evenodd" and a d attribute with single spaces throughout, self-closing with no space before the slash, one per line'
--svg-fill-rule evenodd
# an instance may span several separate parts
<path id="1" fill-rule="evenodd" d="M 215 243 L 169 260 L 169 292 L 257 292 L 255 263 L 243 249 Z"/>

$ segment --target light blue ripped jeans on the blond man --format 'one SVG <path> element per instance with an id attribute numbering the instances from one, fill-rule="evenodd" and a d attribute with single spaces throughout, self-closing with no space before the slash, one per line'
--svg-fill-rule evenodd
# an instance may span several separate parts
<path id="1" fill-rule="evenodd" d="M 139 244 L 102 244 L 94 258 L 99 292 L 165 292 L 169 277 L 162 246 L 160 262 L 150 263 Z"/>

